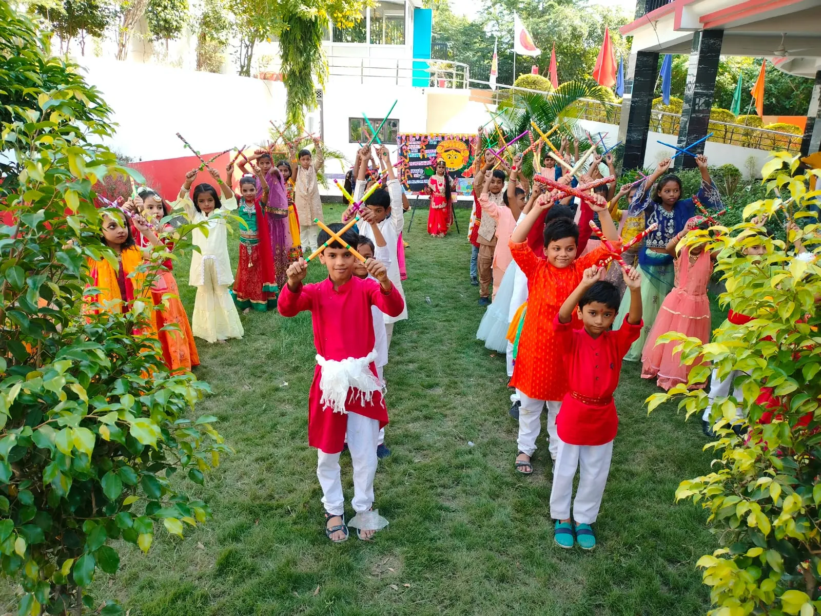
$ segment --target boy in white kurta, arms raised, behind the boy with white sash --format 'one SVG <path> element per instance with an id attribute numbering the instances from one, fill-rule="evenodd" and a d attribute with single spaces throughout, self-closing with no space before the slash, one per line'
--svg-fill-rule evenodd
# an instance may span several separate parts
<path id="1" fill-rule="evenodd" d="M 384 145 L 379 146 L 379 156 L 385 162 L 388 168 L 388 190 L 378 188 L 372 195 L 368 197 L 365 202 L 368 209 L 374 212 L 377 220 L 377 226 L 382 232 L 387 244 L 388 251 L 390 251 L 390 265 L 388 266 L 388 278 L 397 287 L 401 293 L 402 299 L 405 298 L 405 290 L 402 288 L 401 274 L 399 272 L 399 257 L 397 255 L 397 248 L 399 242 L 399 233 L 405 225 L 404 210 L 402 209 L 402 189 L 397 180 L 396 173 L 393 171 L 390 154 Z M 370 156 L 368 148 L 360 150 L 360 156 L 365 158 Z M 367 165 L 360 164 L 359 177 L 356 178 L 356 186 L 354 189 L 354 200 L 358 201 L 365 194 L 365 168 Z M 348 213 L 346 213 L 347 215 Z M 374 241 L 374 232 L 369 224 L 360 225 L 360 235 L 367 237 L 370 241 Z M 374 241 L 374 244 L 377 242 Z M 388 332 L 388 348 L 391 347 L 391 338 L 393 336 L 393 324 L 397 321 L 408 318 L 407 305 L 402 310 L 401 315 L 392 317 L 384 315 L 385 329 Z"/>

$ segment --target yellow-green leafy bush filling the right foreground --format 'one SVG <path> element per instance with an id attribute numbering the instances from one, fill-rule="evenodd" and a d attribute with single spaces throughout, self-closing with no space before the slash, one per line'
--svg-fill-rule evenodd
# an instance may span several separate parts
<path id="1" fill-rule="evenodd" d="M 720 547 L 702 556 L 710 614 L 800 614 L 821 611 L 821 266 L 817 254 L 798 257 L 794 242 L 818 251 L 819 224 L 810 191 L 819 172 L 799 172 L 798 157 L 777 153 L 764 166 L 768 197 L 731 228 L 696 232 L 686 241 L 720 251 L 716 270 L 727 291 L 719 301 L 752 317 L 725 322 L 701 343 L 677 333 L 681 361 L 694 367 L 689 384 L 648 398 L 649 411 L 677 400 L 700 418 L 708 390 L 693 388 L 734 375 L 731 395 L 716 398 L 710 423 L 718 439 L 706 446 L 712 471 L 681 482 L 676 498 L 709 512 Z M 787 243 L 762 235 L 759 225 L 783 218 L 796 228 Z M 764 255 L 746 254 L 764 245 Z"/>

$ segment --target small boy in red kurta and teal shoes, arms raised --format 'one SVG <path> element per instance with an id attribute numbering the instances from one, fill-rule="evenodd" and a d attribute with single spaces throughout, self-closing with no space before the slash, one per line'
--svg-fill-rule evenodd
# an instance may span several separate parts
<path id="1" fill-rule="evenodd" d="M 630 312 L 615 331 L 610 328 L 621 297 L 614 284 L 599 280 L 599 274 L 595 265 L 585 269 L 579 286 L 553 321 L 557 348 L 561 350 L 557 361 L 566 367 L 570 388 L 557 417 L 559 447 L 553 465 L 550 517 L 556 521 L 553 537 L 557 545 L 568 549 L 573 547 L 570 506 L 577 467 L 581 467 L 581 472 L 573 501 L 576 541 L 583 549 L 596 546 L 590 524 L 596 521 L 602 505 L 613 439 L 618 430 L 613 392 L 618 385 L 621 360 L 641 333 L 639 270 L 622 272 L 630 288 Z M 583 328 L 573 329 L 574 313 Z"/>

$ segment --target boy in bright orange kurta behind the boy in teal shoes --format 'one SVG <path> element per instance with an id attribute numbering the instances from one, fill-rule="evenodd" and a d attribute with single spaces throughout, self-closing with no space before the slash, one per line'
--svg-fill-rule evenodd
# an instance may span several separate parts
<path id="1" fill-rule="evenodd" d="M 530 457 L 536 450 L 541 428 L 539 417 L 545 403 L 548 405 L 548 447 L 554 460 L 558 450 L 556 416 L 567 392 L 567 375 L 565 366 L 556 361 L 554 355 L 553 320 L 562 303 L 579 284 L 585 269 L 608 255 L 606 248 L 599 247 L 576 259 L 579 228 L 569 218 L 556 218 L 545 226 L 543 250 L 547 260 L 534 253 L 527 243 L 527 235 L 539 216 L 553 206 L 559 196 L 552 193 L 539 197 L 510 240 L 513 260 L 527 276 L 529 291 L 519 353 L 511 379 L 511 387 L 516 388 L 521 398 L 516 470 L 525 475 L 533 472 Z M 599 212 L 602 232 L 615 244 L 617 231 L 610 218 L 607 200 L 600 195 L 593 199 L 590 206 Z"/>

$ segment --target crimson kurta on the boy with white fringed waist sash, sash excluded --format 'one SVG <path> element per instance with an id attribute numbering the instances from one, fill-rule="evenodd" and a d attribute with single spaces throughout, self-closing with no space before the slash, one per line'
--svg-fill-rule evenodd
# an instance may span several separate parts
<path id="1" fill-rule="evenodd" d="M 321 283 L 306 284 L 296 292 L 288 285 L 279 293 L 277 310 L 282 316 L 296 316 L 310 310 L 314 323 L 314 347 L 327 360 L 342 361 L 348 357 L 365 357 L 374 350 L 374 323 L 371 306 L 386 315 L 399 316 L 405 301 L 397 287 L 383 292 L 375 280 L 351 278 L 334 290 L 330 278 Z M 376 373 L 372 362 L 371 372 Z M 325 453 L 339 453 L 345 442 L 348 416 L 320 406 L 319 389 L 321 368 L 314 370 L 314 382 L 308 394 L 308 444 Z M 382 393 L 374 392 L 370 402 L 363 404 L 351 393 L 345 402 L 348 412 L 379 421 L 379 427 L 388 424 L 388 410 Z"/>

